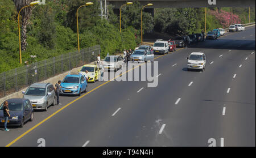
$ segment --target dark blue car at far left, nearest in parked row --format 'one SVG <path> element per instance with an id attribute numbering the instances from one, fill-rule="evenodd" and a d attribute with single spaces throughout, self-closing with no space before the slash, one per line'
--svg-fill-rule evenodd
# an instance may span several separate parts
<path id="1" fill-rule="evenodd" d="M 33 121 L 34 111 L 30 100 L 28 99 L 8 99 L 9 113 L 7 126 L 19 126 L 23 127 L 24 123 L 27 121 Z M 0 122 L 3 126 L 5 119 L 3 117 L 3 104 L 0 106 Z"/>

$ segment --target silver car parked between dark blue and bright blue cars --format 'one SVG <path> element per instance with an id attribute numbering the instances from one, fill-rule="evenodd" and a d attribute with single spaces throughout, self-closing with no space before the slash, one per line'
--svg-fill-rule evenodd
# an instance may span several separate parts
<path id="1" fill-rule="evenodd" d="M 51 83 L 34 83 L 22 93 L 24 99 L 30 100 L 33 109 L 47 111 L 48 106 L 55 102 L 55 90 Z"/>

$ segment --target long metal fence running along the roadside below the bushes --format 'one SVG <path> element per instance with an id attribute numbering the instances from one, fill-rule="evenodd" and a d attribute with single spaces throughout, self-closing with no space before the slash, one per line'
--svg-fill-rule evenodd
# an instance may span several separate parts
<path id="1" fill-rule="evenodd" d="M 75 67 L 96 61 L 100 45 L 35 62 L 0 74 L 0 98 Z"/>

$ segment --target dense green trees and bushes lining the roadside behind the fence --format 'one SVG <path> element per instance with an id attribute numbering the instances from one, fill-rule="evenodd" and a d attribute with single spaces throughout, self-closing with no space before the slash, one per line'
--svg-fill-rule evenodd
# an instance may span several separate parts
<path id="1" fill-rule="evenodd" d="M 22 0 L 27 3 L 32 0 Z M 0 0 L 0 73 L 28 63 L 42 61 L 56 55 L 77 50 L 76 10 L 82 0 L 52 0 L 46 5 L 31 8 L 26 28 L 22 32 L 22 65 L 19 64 L 18 5 L 15 0 Z M 119 32 L 119 15 L 108 6 L 108 20 L 101 20 L 100 4 L 79 10 L 80 49 L 101 45 L 102 58 L 106 54 L 135 48 L 141 39 L 141 4 L 122 8 L 122 33 Z M 230 12 L 221 8 L 220 14 Z M 208 8 L 207 30 L 221 28 L 226 16 L 218 18 L 218 8 Z M 216 13 L 217 12 L 217 13 Z M 224 12 L 224 13 L 223 13 Z M 233 8 L 233 18 L 247 23 L 248 8 Z M 22 15 L 22 14 L 21 14 Z M 167 20 L 166 20 L 167 19 Z M 23 17 L 21 18 L 21 25 Z M 255 22 L 255 8 L 251 8 L 251 22 Z M 226 26 L 226 24 L 225 24 Z M 162 32 L 175 35 L 201 32 L 204 29 L 204 8 L 155 8 L 155 15 L 143 12 L 143 33 Z M 22 34 L 23 35 L 23 34 Z M 31 55 L 36 55 L 32 58 Z"/>

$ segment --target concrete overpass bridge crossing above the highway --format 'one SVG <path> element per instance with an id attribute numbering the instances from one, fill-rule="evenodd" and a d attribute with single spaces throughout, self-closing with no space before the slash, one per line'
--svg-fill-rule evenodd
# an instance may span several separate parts
<path id="1" fill-rule="evenodd" d="M 119 8 L 127 0 L 106 0 Z M 188 8 L 188 7 L 255 7 L 255 0 L 138 0 L 142 5 L 153 3 L 153 6 L 147 8 Z M 133 2 L 133 0 L 131 0 Z"/>

